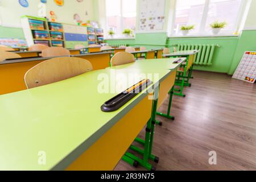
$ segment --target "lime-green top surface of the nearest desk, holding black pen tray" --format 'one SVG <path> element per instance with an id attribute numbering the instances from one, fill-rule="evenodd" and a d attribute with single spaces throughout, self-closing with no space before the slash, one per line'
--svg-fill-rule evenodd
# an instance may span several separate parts
<path id="1" fill-rule="evenodd" d="M 161 63 L 165 64 L 164 61 L 158 64 Z M 127 89 L 126 85 L 122 85 L 119 73 L 126 78 L 131 73 L 144 73 L 140 77 L 134 76 L 131 85 L 146 78 L 149 73 L 159 73 L 154 81 L 161 81 L 171 73 L 168 69 L 152 65 L 148 61 L 143 68 L 138 66 L 133 69 L 127 65 L 127 69 L 93 71 L 0 96 L 0 170 L 67 168 L 147 96 L 146 90 L 150 88 L 143 90 L 121 109 L 112 113 L 102 112 L 100 107 L 105 101 Z M 117 80 L 117 91 L 98 93 L 100 78 L 104 75 Z M 46 165 L 38 164 L 39 151 L 46 152 Z"/>

